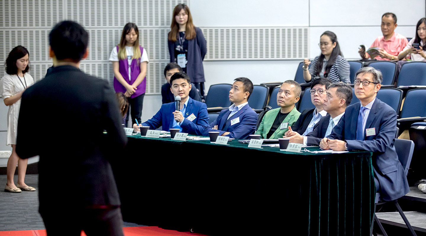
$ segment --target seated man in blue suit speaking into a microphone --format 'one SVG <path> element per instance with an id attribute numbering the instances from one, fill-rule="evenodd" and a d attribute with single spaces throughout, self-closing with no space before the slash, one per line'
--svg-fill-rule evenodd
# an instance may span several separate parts
<path id="1" fill-rule="evenodd" d="M 170 88 L 172 93 L 181 97 L 180 110 L 175 110 L 175 102 L 162 104 L 153 118 L 139 124 L 139 126 L 150 126 L 150 129 L 163 126 L 163 130 L 166 131 L 180 129 L 180 132 L 190 135 L 202 135 L 209 120 L 206 104 L 195 101 L 188 96 L 192 86 L 186 73 L 175 73 L 170 78 L 170 84 L 172 85 Z M 136 124 L 133 124 L 133 128 L 139 131 Z"/>

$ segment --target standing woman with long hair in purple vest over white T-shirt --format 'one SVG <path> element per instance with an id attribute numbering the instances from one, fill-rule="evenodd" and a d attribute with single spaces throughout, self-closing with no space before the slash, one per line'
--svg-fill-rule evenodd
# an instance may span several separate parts
<path id="1" fill-rule="evenodd" d="M 116 93 L 124 93 L 130 109 L 127 110 L 126 126 L 129 111 L 132 119 L 141 123 L 142 103 L 147 86 L 147 51 L 139 46 L 139 30 L 134 23 L 127 23 L 121 34 L 120 44 L 112 48 L 109 61 L 114 70 L 114 89 Z"/>

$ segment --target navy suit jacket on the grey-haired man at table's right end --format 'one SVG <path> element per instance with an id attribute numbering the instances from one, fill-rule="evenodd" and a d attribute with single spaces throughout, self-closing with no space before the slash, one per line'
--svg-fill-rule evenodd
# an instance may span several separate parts
<path id="1" fill-rule="evenodd" d="M 376 191 L 380 191 L 381 198 L 386 201 L 398 199 L 408 193 L 410 188 L 394 147 L 397 114 L 389 105 L 376 98 L 366 123 L 366 129 L 375 128 L 376 135 L 366 136 L 364 130 L 364 140 L 356 140 L 360 106 L 360 102 L 357 102 L 347 107 L 345 115 L 334 126 L 328 138 L 345 140 L 348 150 L 373 152 L 375 180 L 380 185 Z"/>

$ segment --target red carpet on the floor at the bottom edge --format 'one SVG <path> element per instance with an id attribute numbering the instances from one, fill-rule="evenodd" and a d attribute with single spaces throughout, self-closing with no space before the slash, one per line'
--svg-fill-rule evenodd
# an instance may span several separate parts
<path id="1" fill-rule="evenodd" d="M 66 230 L 66 229 L 64 229 Z M 175 230 L 164 230 L 157 226 L 144 227 L 125 227 L 123 228 L 125 236 L 200 236 L 201 233 L 178 232 Z M 17 230 L 0 231 L 0 236 L 46 236 L 46 230 Z M 86 236 L 81 232 L 81 236 Z"/>

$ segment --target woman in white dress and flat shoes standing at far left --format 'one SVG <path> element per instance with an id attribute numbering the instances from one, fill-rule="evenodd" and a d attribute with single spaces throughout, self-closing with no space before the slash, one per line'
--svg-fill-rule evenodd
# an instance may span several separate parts
<path id="1" fill-rule="evenodd" d="M 34 84 L 34 79 L 27 73 L 29 70 L 29 52 L 23 46 L 17 46 L 9 53 L 6 59 L 6 75 L 1 79 L 1 95 L 4 104 L 9 106 L 7 112 L 7 138 L 6 145 L 12 145 L 12 155 L 7 161 L 7 183 L 5 192 L 20 193 L 34 191 L 35 188 L 25 184 L 25 173 L 28 159 L 20 159 L 16 154 L 16 129 L 18 124 L 21 96 L 25 89 Z M 18 181 L 14 183 L 14 174 L 18 165 Z"/>

